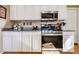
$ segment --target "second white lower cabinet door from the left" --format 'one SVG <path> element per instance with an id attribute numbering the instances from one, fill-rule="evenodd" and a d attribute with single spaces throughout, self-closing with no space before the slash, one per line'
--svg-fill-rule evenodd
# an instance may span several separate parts
<path id="1" fill-rule="evenodd" d="M 21 40 L 21 32 L 12 32 L 12 51 L 22 51 Z"/>

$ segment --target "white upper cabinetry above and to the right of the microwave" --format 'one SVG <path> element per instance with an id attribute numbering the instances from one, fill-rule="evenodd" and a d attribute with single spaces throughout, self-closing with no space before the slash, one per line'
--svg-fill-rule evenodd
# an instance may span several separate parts
<path id="1" fill-rule="evenodd" d="M 40 6 L 41 12 L 43 11 L 58 11 L 58 19 L 67 19 L 67 6 L 65 5 L 44 5 Z"/>

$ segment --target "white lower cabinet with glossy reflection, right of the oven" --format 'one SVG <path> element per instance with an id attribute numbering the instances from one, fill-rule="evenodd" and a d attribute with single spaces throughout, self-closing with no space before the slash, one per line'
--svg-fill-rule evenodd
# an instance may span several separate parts
<path id="1" fill-rule="evenodd" d="M 74 32 L 63 32 L 63 52 L 74 52 Z"/>

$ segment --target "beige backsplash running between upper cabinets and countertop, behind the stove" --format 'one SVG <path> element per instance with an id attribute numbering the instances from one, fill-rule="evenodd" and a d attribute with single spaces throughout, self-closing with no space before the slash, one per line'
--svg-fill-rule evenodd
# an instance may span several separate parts
<path id="1" fill-rule="evenodd" d="M 57 24 L 57 22 L 53 22 L 53 21 L 40 21 L 40 20 L 13 20 L 13 21 L 7 21 L 7 24 L 4 28 L 14 28 L 16 26 L 20 26 L 20 27 L 38 27 L 39 29 L 41 28 L 42 25 L 50 25 L 51 26 L 56 26 L 55 24 Z M 27 26 L 28 25 L 28 26 Z M 63 28 L 63 27 L 62 27 Z"/>

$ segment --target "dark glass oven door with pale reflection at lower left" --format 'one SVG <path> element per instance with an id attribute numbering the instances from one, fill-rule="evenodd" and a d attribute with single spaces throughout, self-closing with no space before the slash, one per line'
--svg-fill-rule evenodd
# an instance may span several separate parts
<path id="1" fill-rule="evenodd" d="M 49 44 L 49 45 L 47 45 Z M 46 45 L 46 46 L 45 46 Z M 63 48 L 63 37 L 61 36 L 42 36 L 42 47 L 54 45 L 55 48 Z M 50 47 L 52 48 L 52 47 Z"/>

